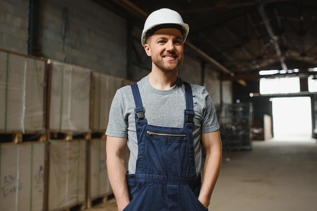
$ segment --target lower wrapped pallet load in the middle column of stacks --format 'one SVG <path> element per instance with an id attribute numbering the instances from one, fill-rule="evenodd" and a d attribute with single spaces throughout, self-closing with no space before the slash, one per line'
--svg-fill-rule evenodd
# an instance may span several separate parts
<path id="1" fill-rule="evenodd" d="M 86 204 L 86 140 L 51 141 L 48 209 Z"/>

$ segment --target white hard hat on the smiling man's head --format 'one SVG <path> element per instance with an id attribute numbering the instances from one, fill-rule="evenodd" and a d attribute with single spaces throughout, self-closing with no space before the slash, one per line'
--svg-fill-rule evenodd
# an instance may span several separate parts
<path id="1" fill-rule="evenodd" d="M 183 42 L 188 35 L 189 26 L 185 24 L 180 14 L 174 10 L 163 8 L 152 12 L 144 23 L 141 36 L 142 46 L 145 44 L 146 36 L 153 34 L 161 28 L 177 28 L 183 34 Z"/>

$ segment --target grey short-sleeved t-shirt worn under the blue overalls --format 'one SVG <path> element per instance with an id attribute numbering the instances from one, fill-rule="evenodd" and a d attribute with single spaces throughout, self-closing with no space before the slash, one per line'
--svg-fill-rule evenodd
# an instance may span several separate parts
<path id="1" fill-rule="evenodd" d="M 182 128 L 184 126 L 184 110 L 186 109 L 185 87 L 178 78 L 174 87 L 169 90 L 158 90 L 148 82 L 148 76 L 137 82 L 145 108 L 145 118 L 149 125 Z M 193 143 L 195 166 L 198 173 L 202 164 L 201 133 L 209 133 L 219 129 L 215 109 L 209 93 L 204 86 L 190 84 L 193 95 L 194 125 Z M 129 173 L 134 174 L 138 157 L 138 141 L 136 135 L 135 103 L 131 86 L 118 89 L 113 97 L 107 136 L 127 137 L 130 149 Z M 172 162 L 172 161 L 171 161 Z"/>

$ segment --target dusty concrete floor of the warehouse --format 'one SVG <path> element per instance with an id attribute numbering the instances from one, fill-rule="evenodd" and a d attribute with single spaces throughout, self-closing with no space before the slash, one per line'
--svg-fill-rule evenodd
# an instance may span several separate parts
<path id="1" fill-rule="evenodd" d="M 112 199 L 88 210 L 117 209 Z M 223 152 L 209 210 L 316 211 L 316 140 L 253 141 L 250 151 Z"/>

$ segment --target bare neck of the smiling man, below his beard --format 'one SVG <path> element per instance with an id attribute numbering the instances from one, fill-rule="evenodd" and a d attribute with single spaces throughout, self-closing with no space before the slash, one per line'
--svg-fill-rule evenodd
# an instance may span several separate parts
<path id="1" fill-rule="evenodd" d="M 176 84 L 177 78 L 177 70 L 170 73 L 165 73 L 152 69 L 151 73 L 148 76 L 148 81 L 150 85 L 155 89 L 168 90 Z"/>

